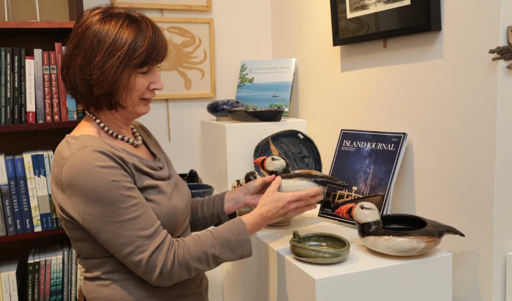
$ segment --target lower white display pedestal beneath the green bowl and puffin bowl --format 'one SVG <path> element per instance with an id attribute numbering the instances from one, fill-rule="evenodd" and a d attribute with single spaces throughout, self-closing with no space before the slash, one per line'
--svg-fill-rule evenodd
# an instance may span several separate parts
<path id="1" fill-rule="evenodd" d="M 252 257 L 223 264 L 224 301 L 452 300 L 451 253 L 437 248 L 411 257 L 380 254 L 361 243 L 355 227 L 318 218 L 317 211 L 252 235 Z M 350 253 L 336 264 L 298 261 L 289 250 L 294 229 L 344 236 Z"/>

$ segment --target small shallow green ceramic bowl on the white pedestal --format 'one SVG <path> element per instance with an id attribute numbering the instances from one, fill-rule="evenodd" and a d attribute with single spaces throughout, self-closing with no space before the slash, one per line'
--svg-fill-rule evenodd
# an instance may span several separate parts
<path id="1" fill-rule="evenodd" d="M 298 260 L 320 264 L 337 263 L 347 258 L 350 243 L 336 234 L 309 233 L 301 236 L 294 230 L 290 251 Z"/>

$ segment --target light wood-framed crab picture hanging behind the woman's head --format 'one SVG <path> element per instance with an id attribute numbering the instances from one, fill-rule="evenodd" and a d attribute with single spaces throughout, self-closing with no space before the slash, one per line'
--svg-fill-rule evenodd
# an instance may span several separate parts
<path id="1" fill-rule="evenodd" d="M 167 39 L 155 99 L 215 97 L 214 19 L 152 17 Z"/>

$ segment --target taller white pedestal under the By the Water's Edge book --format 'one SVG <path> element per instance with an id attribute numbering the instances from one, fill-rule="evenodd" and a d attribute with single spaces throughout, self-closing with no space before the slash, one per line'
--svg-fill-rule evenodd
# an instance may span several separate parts
<path id="1" fill-rule="evenodd" d="M 203 183 L 215 192 L 231 189 L 234 180 L 254 170 L 254 147 L 265 137 L 284 130 L 306 133 L 306 120 L 283 118 L 280 122 L 201 120 L 201 170 Z"/>

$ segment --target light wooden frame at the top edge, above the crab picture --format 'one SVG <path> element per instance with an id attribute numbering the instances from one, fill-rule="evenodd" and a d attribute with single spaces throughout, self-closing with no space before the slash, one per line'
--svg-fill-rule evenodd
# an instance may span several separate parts
<path id="1" fill-rule="evenodd" d="M 171 10 L 211 10 L 211 0 L 110 0 L 120 7 L 156 8 Z"/>

